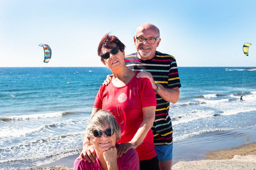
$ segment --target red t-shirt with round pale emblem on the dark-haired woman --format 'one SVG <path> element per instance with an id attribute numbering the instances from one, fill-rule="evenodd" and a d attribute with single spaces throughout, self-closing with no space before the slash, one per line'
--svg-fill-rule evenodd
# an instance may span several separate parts
<path id="1" fill-rule="evenodd" d="M 131 141 L 143 122 L 142 108 L 156 106 L 156 94 L 147 78 L 136 78 L 138 73 L 124 87 L 115 87 L 111 81 L 102 85 L 95 98 L 94 108 L 107 110 L 115 115 L 121 127 L 121 138 L 117 143 Z M 156 157 L 153 133 L 150 129 L 143 143 L 136 148 L 140 160 Z"/>

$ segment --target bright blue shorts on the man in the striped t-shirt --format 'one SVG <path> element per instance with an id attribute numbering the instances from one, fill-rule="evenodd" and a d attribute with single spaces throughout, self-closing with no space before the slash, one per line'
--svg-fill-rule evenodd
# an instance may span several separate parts
<path id="1" fill-rule="evenodd" d="M 160 161 L 172 160 L 172 145 L 155 145 L 157 159 Z"/>

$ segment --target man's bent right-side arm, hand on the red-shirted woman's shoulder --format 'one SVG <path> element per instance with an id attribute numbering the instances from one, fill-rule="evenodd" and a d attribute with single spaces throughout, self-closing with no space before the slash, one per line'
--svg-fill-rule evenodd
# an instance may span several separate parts
<path id="1" fill-rule="evenodd" d="M 140 73 L 137 74 L 137 78 L 148 78 L 150 80 L 152 88 L 154 90 L 157 89 L 157 85 L 154 81 L 154 78 L 152 77 L 152 74 L 147 72 L 147 71 L 141 71 Z M 161 96 L 165 101 L 170 101 L 172 103 L 177 103 L 180 97 L 180 90 L 179 87 L 174 87 L 172 89 L 168 89 L 166 87 L 163 87 L 163 85 L 160 85 L 158 87 L 159 89 L 157 90 L 157 94 Z"/>

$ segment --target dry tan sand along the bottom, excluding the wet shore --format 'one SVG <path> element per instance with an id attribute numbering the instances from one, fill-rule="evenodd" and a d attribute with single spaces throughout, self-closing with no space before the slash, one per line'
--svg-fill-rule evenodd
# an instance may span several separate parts
<path id="1" fill-rule="evenodd" d="M 256 169 L 256 142 L 228 149 L 208 152 L 207 159 L 180 161 L 173 165 L 172 169 Z M 69 161 L 73 161 L 70 157 Z M 71 159 L 71 160 L 70 160 Z M 62 160 L 64 161 L 64 160 Z M 62 162 L 63 163 L 63 162 Z M 55 163 L 56 164 L 56 163 Z M 62 170 L 72 169 L 68 166 L 36 167 L 29 170 Z"/>

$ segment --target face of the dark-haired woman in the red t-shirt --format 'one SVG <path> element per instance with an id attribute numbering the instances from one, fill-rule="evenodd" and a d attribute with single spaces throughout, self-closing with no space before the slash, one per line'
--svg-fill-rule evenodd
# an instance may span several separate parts
<path id="1" fill-rule="evenodd" d="M 113 44 L 113 48 L 115 48 L 116 45 Z M 102 54 L 105 54 L 105 53 L 109 53 L 109 58 L 108 59 L 103 59 L 102 60 L 102 63 L 107 66 L 109 69 L 111 69 L 111 71 L 115 72 L 116 69 L 120 69 L 121 67 L 124 67 L 125 66 L 125 62 L 124 62 L 124 52 L 121 52 L 119 49 L 118 49 L 118 53 L 116 54 L 113 54 L 111 53 L 111 50 L 113 49 L 109 49 L 109 48 L 105 48 L 105 47 L 102 47 L 101 48 L 101 52 Z"/>

